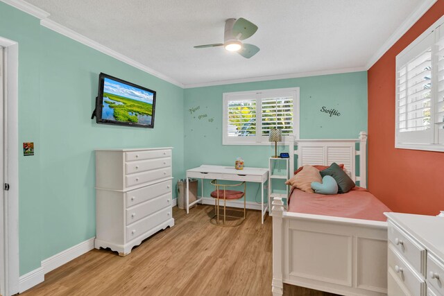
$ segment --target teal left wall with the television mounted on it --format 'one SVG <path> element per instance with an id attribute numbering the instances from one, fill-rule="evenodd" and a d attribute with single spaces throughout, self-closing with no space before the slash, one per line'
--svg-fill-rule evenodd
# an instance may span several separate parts
<path id="1" fill-rule="evenodd" d="M 34 156 L 19 157 L 24 275 L 43 259 L 95 236 L 94 149 L 172 146 L 173 176 L 183 177 L 184 91 L 50 31 L 2 2 L 0 36 L 19 43 L 19 147 L 35 143 Z M 90 119 L 100 72 L 157 92 L 154 129 Z"/>

